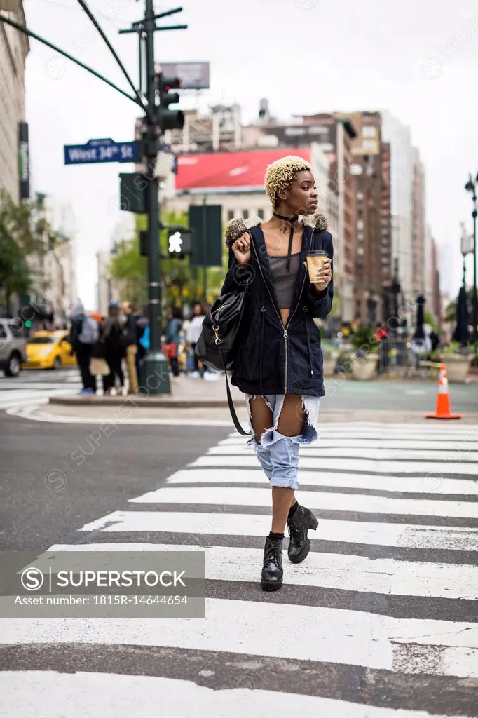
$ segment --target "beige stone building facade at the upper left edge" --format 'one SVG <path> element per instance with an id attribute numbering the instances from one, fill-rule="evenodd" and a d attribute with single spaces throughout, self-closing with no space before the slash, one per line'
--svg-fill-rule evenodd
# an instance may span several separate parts
<path id="1" fill-rule="evenodd" d="M 22 2 L 16 11 L 6 14 L 25 24 Z M 28 129 L 24 122 L 28 53 L 27 35 L 0 23 L 0 187 L 14 202 L 29 196 Z"/>

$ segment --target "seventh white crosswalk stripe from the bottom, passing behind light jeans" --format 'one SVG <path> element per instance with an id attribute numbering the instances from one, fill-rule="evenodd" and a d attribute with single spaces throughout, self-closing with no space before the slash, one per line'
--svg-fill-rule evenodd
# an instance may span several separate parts
<path id="1" fill-rule="evenodd" d="M 190 466 L 257 466 L 257 459 L 253 454 L 247 452 L 244 456 L 202 456 Z M 381 472 L 384 474 L 469 474 L 471 476 L 478 475 L 478 464 L 465 463 L 463 461 L 456 462 L 404 462 L 404 461 L 374 461 L 370 459 L 329 459 L 319 457 L 309 457 L 308 454 L 301 456 L 301 467 L 303 469 L 315 469 L 319 471 L 321 468 L 329 470 L 342 471 L 364 471 L 364 472 Z"/>

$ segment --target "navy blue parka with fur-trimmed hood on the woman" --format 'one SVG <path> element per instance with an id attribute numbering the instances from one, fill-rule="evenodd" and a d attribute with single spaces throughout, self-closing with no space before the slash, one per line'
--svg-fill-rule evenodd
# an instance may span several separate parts
<path id="1" fill-rule="evenodd" d="M 310 222 L 311 220 L 309 220 Z M 245 314 L 233 364 L 231 382 L 248 394 L 301 394 L 324 396 L 323 358 L 320 332 L 314 317 L 325 319 L 332 309 L 333 280 L 323 292 L 317 292 L 304 266 L 307 253 L 322 249 L 332 259 L 332 235 L 327 218 L 312 218 L 313 226 L 304 224 L 301 261 L 297 273 L 289 320 L 283 326 L 278 309 L 271 268 L 261 223 L 247 231 L 253 242 L 250 263 L 241 266 L 230 248 L 229 268 L 221 296 L 228 292 L 246 292 Z M 243 235 L 245 225 L 231 220 L 226 233 L 229 247 Z M 247 280 L 249 280 L 247 282 Z"/>

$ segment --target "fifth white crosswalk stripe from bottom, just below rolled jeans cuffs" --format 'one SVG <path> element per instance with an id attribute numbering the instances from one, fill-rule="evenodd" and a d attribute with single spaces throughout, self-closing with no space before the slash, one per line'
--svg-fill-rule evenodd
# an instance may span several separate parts
<path id="1" fill-rule="evenodd" d="M 301 491 L 300 501 L 312 509 L 334 511 L 364 511 L 390 513 L 400 516 L 449 516 L 478 518 L 478 503 L 465 501 L 434 501 L 431 499 L 384 498 L 358 494 Z M 148 491 L 132 498 L 129 503 L 197 503 L 220 506 L 270 506 L 270 488 L 229 486 L 172 487 Z"/>

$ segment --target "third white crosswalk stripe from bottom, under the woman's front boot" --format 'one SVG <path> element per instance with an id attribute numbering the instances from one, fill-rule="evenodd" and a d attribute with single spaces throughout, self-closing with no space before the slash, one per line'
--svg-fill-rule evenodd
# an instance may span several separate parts
<path id="1" fill-rule="evenodd" d="M 257 583 L 262 549 L 197 544 L 55 544 L 50 551 L 205 551 L 206 578 Z M 285 552 L 284 552 L 285 554 Z M 55 568 L 55 559 L 48 559 Z M 42 569 L 42 556 L 35 561 Z M 45 567 L 45 570 L 47 567 Z M 75 567 L 70 566 L 68 570 Z M 422 596 L 478 600 L 478 566 L 434 564 L 365 556 L 312 552 L 302 564 L 286 565 L 286 582 L 337 591 L 360 591 L 395 596 Z"/>

